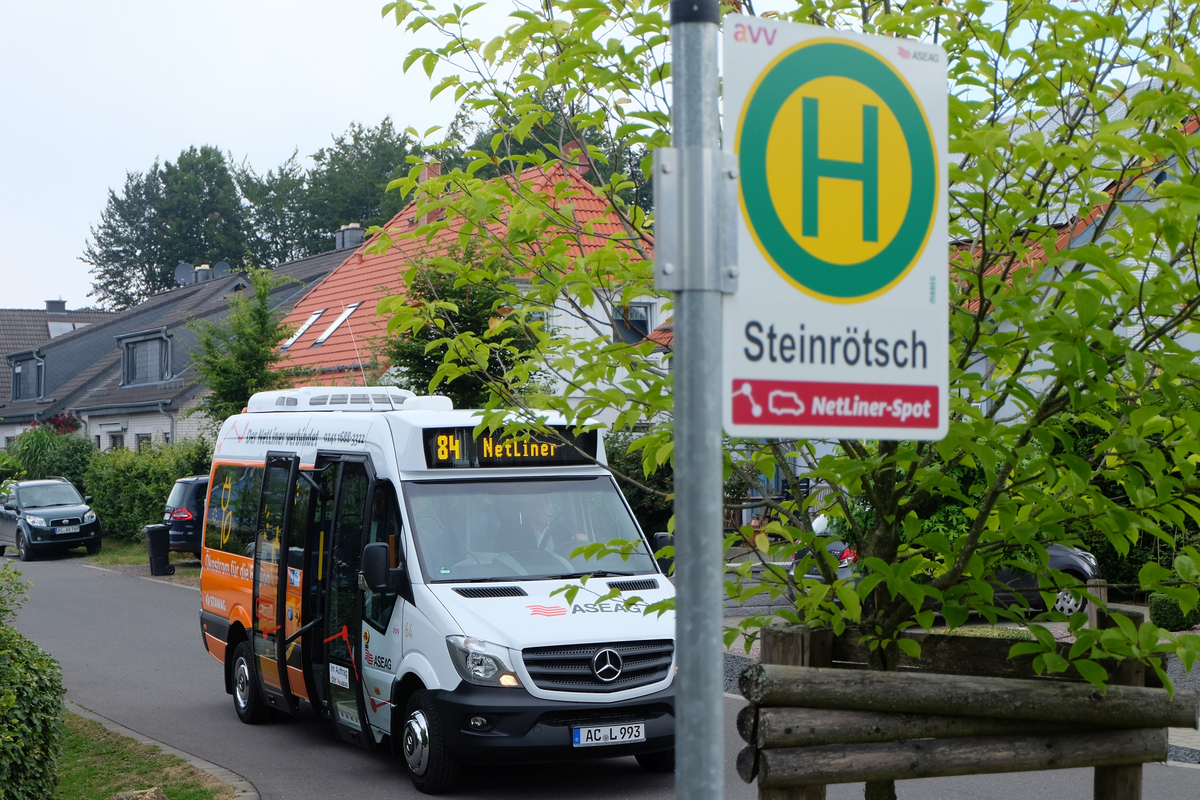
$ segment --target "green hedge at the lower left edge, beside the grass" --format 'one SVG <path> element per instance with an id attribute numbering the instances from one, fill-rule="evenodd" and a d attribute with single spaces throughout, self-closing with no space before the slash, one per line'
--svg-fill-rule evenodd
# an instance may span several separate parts
<path id="1" fill-rule="evenodd" d="M 54 796 L 62 693 L 59 663 L 0 625 L 0 800 Z"/>

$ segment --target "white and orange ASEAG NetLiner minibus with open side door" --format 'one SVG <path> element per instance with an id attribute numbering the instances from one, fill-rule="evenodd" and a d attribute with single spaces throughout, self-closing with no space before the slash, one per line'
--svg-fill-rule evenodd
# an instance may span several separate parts
<path id="1" fill-rule="evenodd" d="M 674 615 L 642 613 L 673 591 L 600 433 L 476 437 L 480 414 L 323 387 L 260 392 L 224 422 L 200 625 L 234 710 L 307 704 L 338 739 L 388 742 L 431 794 L 464 764 L 673 769 Z M 582 555 L 614 541 L 626 557 Z M 569 609 L 553 593 L 583 575 Z M 613 587 L 641 603 L 586 596 Z"/>

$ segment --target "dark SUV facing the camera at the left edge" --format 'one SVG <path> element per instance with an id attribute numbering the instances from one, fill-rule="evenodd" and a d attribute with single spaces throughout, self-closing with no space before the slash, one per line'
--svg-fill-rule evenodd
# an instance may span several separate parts
<path id="1" fill-rule="evenodd" d="M 100 552 L 102 531 L 91 498 L 79 497 L 64 477 L 19 481 L 0 503 L 0 555 L 8 547 L 17 548 L 22 561 L 80 545 L 89 554 Z"/>

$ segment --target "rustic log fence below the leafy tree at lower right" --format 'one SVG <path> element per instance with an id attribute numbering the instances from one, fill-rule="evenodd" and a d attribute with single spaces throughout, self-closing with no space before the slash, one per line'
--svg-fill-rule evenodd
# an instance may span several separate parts
<path id="1" fill-rule="evenodd" d="M 865 669 L 857 636 L 763 631 L 761 663 L 739 680 L 750 704 L 737 762 L 760 800 L 823 800 L 828 783 L 1080 766 L 1096 768 L 1096 800 L 1140 800 L 1141 765 L 1166 760 L 1166 728 L 1200 723 L 1200 693 L 1147 687 L 1140 663 L 1104 663 L 1102 692 L 1079 675 L 1034 676 L 1032 657 L 1008 658 L 1012 639 L 910 638 L 922 660 L 881 673 Z"/>

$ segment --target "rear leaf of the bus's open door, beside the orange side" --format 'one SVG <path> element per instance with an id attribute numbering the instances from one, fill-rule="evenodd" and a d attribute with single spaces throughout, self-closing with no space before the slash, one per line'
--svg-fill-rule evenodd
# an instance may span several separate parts
<path id="1" fill-rule="evenodd" d="M 269 705 L 287 714 L 296 712 L 283 639 L 288 548 L 299 471 L 300 459 L 295 455 L 268 453 L 254 536 L 253 643 L 259 687 Z"/>

